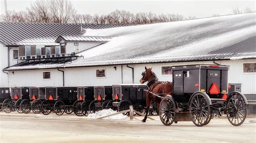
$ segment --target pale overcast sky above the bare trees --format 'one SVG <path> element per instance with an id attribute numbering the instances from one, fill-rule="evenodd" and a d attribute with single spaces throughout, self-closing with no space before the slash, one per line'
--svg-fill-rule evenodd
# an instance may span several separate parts
<path id="1" fill-rule="evenodd" d="M 4 13 L 4 0 L 0 0 L 1 14 Z M 8 10 L 21 11 L 29 7 L 35 0 L 6 0 Z M 133 13 L 137 12 L 152 12 L 156 14 L 160 13 L 179 13 L 185 17 L 196 16 L 210 17 L 214 13 L 219 15 L 227 15 L 231 10 L 238 6 L 240 9 L 244 9 L 249 6 L 255 11 L 255 1 L 146 1 L 146 0 L 118 0 L 118 1 L 99 1 L 99 0 L 71 0 L 73 6 L 78 13 L 84 14 L 98 14 L 103 15 L 110 13 L 116 9 L 127 10 Z"/>

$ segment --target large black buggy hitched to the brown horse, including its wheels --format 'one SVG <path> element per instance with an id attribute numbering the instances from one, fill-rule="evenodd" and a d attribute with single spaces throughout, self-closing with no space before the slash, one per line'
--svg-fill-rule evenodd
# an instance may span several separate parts
<path id="1" fill-rule="evenodd" d="M 228 94 L 228 66 L 176 66 L 173 70 L 173 96 L 160 102 L 160 120 L 164 125 L 173 121 L 192 120 L 196 126 L 207 125 L 221 111 L 234 126 L 246 118 L 247 99 L 238 91 Z M 228 95 L 227 95 L 228 94 Z"/>

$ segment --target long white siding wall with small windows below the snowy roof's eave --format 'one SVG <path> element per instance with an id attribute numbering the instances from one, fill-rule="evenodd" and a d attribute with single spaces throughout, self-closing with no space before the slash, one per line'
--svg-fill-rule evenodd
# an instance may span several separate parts
<path id="1" fill-rule="evenodd" d="M 229 83 L 242 83 L 242 92 L 244 94 L 256 94 L 256 74 L 242 73 L 242 63 L 256 62 L 252 60 L 228 60 L 217 61 L 221 65 L 230 66 L 228 71 Z M 152 67 L 152 71 L 156 73 L 160 81 L 172 81 L 172 75 L 161 75 L 161 66 L 178 66 L 178 65 L 195 65 L 195 64 L 212 64 L 213 61 L 198 62 L 173 62 L 173 63 L 152 63 L 129 65 L 134 68 L 134 83 L 139 83 L 145 66 Z M 114 67 L 117 67 L 116 70 Z M 96 69 L 104 68 L 106 77 L 97 78 Z M 51 80 L 43 80 L 43 70 L 23 70 L 9 72 L 9 86 L 62 86 L 62 72 L 57 69 L 49 69 L 51 71 Z M 122 83 L 122 66 L 100 66 L 100 67 L 79 67 L 65 68 L 65 86 L 96 86 L 96 85 L 112 85 Z M 47 69 L 44 71 L 48 71 Z M 132 69 L 123 65 L 123 83 L 132 83 Z"/>

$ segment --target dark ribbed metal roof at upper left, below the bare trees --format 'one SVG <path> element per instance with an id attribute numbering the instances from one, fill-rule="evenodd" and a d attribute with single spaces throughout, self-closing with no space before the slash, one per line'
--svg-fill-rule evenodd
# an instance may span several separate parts
<path id="1" fill-rule="evenodd" d="M 102 29 L 126 25 L 115 24 L 58 24 L 58 23 L 12 23 L 0 22 L 0 42 L 7 46 L 17 46 L 24 40 L 37 38 L 54 38 L 53 44 L 59 35 L 82 35 L 84 29 Z M 82 31 L 81 31 L 82 30 Z M 32 41 L 42 43 L 42 41 Z"/>

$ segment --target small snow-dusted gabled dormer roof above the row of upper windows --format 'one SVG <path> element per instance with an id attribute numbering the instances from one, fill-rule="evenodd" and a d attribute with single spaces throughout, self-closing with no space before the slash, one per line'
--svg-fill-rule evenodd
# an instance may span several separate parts
<path id="1" fill-rule="evenodd" d="M 60 40 L 65 41 L 90 41 L 90 42 L 107 42 L 110 41 L 113 37 L 109 36 L 59 36 L 56 42 L 59 42 Z"/>

